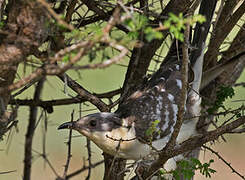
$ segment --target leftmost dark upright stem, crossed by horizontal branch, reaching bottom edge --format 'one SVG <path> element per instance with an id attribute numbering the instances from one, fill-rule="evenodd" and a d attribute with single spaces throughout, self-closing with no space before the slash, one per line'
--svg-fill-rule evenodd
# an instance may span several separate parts
<path id="1" fill-rule="evenodd" d="M 35 88 L 34 92 L 34 101 L 38 101 L 41 96 L 41 92 L 43 89 L 45 79 L 42 78 Z M 29 115 L 29 124 L 26 132 L 26 139 L 25 139 L 25 155 L 24 155 L 24 175 L 23 179 L 30 180 L 31 179 L 31 164 L 32 164 L 32 142 L 33 136 L 35 133 L 35 126 L 37 120 L 37 106 L 30 106 L 30 115 Z"/>

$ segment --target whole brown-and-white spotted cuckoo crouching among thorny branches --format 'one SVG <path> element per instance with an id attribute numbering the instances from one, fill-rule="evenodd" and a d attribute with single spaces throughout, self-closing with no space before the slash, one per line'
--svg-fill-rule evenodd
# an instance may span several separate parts
<path id="1" fill-rule="evenodd" d="M 199 67 L 202 66 L 200 63 Z M 197 65 L 196 65 L 197 66 Z M 196 68 L 198 69 L 198 68 Z M 161 150 L 170 140 L 177 121 L 178 104 L 182 89 L 181 63 L 174 58 L 163 63 L 142 87 L 128 97 L 114 113 L 90 114 L 74 122 L 66 122 L 58 129 L 71 128 L 92 140 L 104 152 L 125 159 L 140 160 Z M 217 68 L 219 73 L 224 68 Z M 198 70 L 202 72 L 202 70 Z M 181 126 L 176 143 L 181 143 L 196 134 L 197 119 L 201 98 L 200 73 L 195 74 L 190 84 L 185 120 Z M 213 77 L 215 78 L 215 77 Z M 208 81 L 212 80 L 209 78 Z M 206 84 L 207 81 L 203 80 Z M 166 167 L 175 168 L 175 163 Z"/>

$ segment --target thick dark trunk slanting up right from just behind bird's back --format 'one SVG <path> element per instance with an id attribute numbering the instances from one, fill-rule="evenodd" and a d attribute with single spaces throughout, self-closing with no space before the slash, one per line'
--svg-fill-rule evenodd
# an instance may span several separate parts
<path id="1" fill-rule="evenodd" d="M 154 20 L 153 26 L 159 24 L 162 21 L 162 17 L 167 17 L 169 12 L 179 14 L 180 12 L 186 12 L 192 5 L 191 0 L 184 0 L 179 3 L 178 0 L 170 1 L 166 8 L 161 13 L 161 16 Z M 123 97 L 128 97 L 133 92 L 137 91 L 140 85 L 143 83 L 144 76 L 150 65 L 152 57 L 155 55 L 157 49 L 162 45 L 168 31 L 163 31 L 163 39 L 154 39 L 151 42 L 144 41 L 142 47 L 135 47 L 132 51 L 132 56 L 128 65 L 128 70 L 123 83 Z M 142 37 L 142 36 L 141 36 Z"/>

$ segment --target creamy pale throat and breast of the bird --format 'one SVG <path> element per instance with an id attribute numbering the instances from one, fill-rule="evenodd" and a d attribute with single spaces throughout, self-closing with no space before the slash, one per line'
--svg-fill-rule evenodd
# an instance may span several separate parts
<path id="1" fill-rule="evenodd" d="M 94 131 L 82 134 L 89 137 L 104 152 L 132 160 L 147 158 L 156 152 L 155 149 L 161 150 L 167 142 L 167 138 L 152 142 L 152 146 L 140 142 L 136 138 L 134 124 L 130 128 L 122 126 L 112 131 Z"/>

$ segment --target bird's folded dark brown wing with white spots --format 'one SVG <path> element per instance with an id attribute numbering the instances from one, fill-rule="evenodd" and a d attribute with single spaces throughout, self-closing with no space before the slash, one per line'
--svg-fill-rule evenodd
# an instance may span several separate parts
<path id="1" fill-rule="evenodd" d="M 170 62 L 160 69 L 139 91 L 116 111 L 122 119 L 134 122 L 141 141 L 171 137 L 177 120 L 181 84 L 180 63 Z"/>

